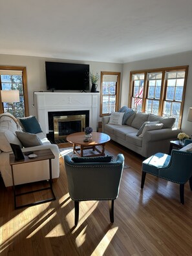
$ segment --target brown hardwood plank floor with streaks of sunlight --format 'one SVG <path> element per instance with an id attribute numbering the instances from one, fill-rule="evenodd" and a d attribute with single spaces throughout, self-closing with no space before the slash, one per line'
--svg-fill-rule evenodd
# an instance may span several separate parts
<path id="1" fill-rule="evenodd" d="M 114 201 L 114 223 L 110 223 L 108 202 L 91 201 L 80 203 L 80 221 L 74 227 L 74 202 L 60 158 L 60 176 L 53 184 L 55 201 L 15 210 L 13 193 L 1 180 L 0 255 L 192 255 L 189 184 L 184 205 L 180 204 L 178 184 L 147 175 L 144 189 L 140 189 L 144 158 L 112 142 L 106 149 L 115 155 L 123 153 L 129 165 L 123 170 L 119 197 Z M 24 189 L 36 186 L 39 183 Z M 33 193 L 25 201 L 39 200 L 41 193 Z"/>

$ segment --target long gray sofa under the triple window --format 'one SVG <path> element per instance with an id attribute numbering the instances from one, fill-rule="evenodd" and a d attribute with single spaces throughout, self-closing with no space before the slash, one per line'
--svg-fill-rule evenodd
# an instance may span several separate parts
<path id="1" fill-rule="evenodd" d="M 177 140 L 177 135 L 181 132 L 180 129 L 173 128 L 175 118 L 162 118 L 155 114 L 134 111 L 124 125 L 109 123 L 110 118 L 111 116 L 102 117 L 102 132 L 108 134 L 114 142 L 144 157 L 158 152 L 168 153 L 170 140 Z"/>

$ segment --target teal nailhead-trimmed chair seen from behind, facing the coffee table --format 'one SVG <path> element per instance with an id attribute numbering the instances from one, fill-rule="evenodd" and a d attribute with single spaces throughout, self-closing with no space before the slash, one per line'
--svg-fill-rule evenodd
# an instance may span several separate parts
<path id="1" fill-rule="evenodd" d="M 64 156 L 69 195 L 74 200 L 75 226 L 79 220 L 79 202 L 86 200 L 109 200 L 110 220 L 114 222 L 114 200 L 120 189 L 124 156 L 118 154 L 114 162 L 100 162 L 107 158 L 109 156 L 85 157 L 73 162 L 70 156 Z"/>

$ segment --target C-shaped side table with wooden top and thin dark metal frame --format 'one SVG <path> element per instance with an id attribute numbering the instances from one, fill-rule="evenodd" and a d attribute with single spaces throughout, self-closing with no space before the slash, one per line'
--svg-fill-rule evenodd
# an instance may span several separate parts
<path id="1" fill-rule="evenodd" d="M 27 153 L 27 152 L 25 152 L 25 153 Z M 28 158 L 28 156 L 25 155 L 25 159 L 18 160 L 18 161 L 15 160 L 14 154 L 10 154 L 10 165 L 11 165 L 11 169 L 12 169 L 12 182 L 13 182 L 13 189 L 14 189 L 14 206 L 15 206 L 15 209 L 26 207 L 26 206 L 34 206 L 36 204 L 41 204 L 41 203 L 44 203 L 44 202 L 50 202 L 52 200 L 56 200 L 56 197 L 54 195 L 54 191 L 52 189 L 52 164 L 51 164 L 51 160 L 53 158 L 55 158 L 55 156 L 54 156 L 54 154 L 52 153 L 52 151 L 50 149 L 36 150 L 36 151 L 34 151 L 34 154 L 37 155 L 36 158 Z M 15 182 L 14 182 L 14 165 L 16 165 L 16 164 L 27 164 L 27 163 L 37 162 L 37 161 L 42 161 L 42 160 L 48 160 L 49 161 L 49 180 L 48 180 L 49 187 L 43 187 L 41 189 L 36 189 L 36 190 L 33 190 L 33 191 L 28 191 L 28 192 L 25 192 L 25 193 L 16 194 L 16 185 L 15 185 Z M 26 171 L 27 171 L 27 169 L 26 169 Z M 52 193 L 51 198 L 41 200 L 41 201 L 37 201 L 37 202 L 34 202 L 34 203 L 30 203 L 30 204 L 23 204 L 21 206 L 17 206 L 17 202 L 16 202 L 17 197 L 19 197 L 21 195 L 26 195 L 28 193 L 43 191 L 45 189 L 50 189 L 50 191 Z"/>

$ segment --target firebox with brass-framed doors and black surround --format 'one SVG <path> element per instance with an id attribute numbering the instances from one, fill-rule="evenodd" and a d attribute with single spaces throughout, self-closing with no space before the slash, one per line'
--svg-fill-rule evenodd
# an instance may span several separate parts
<path id="1" fill-rule="evenodd" d="M 89 126 L 89 111 L 48 112 L 48 138 L 64 140 L 71 133 L 84 131 Z"/>

